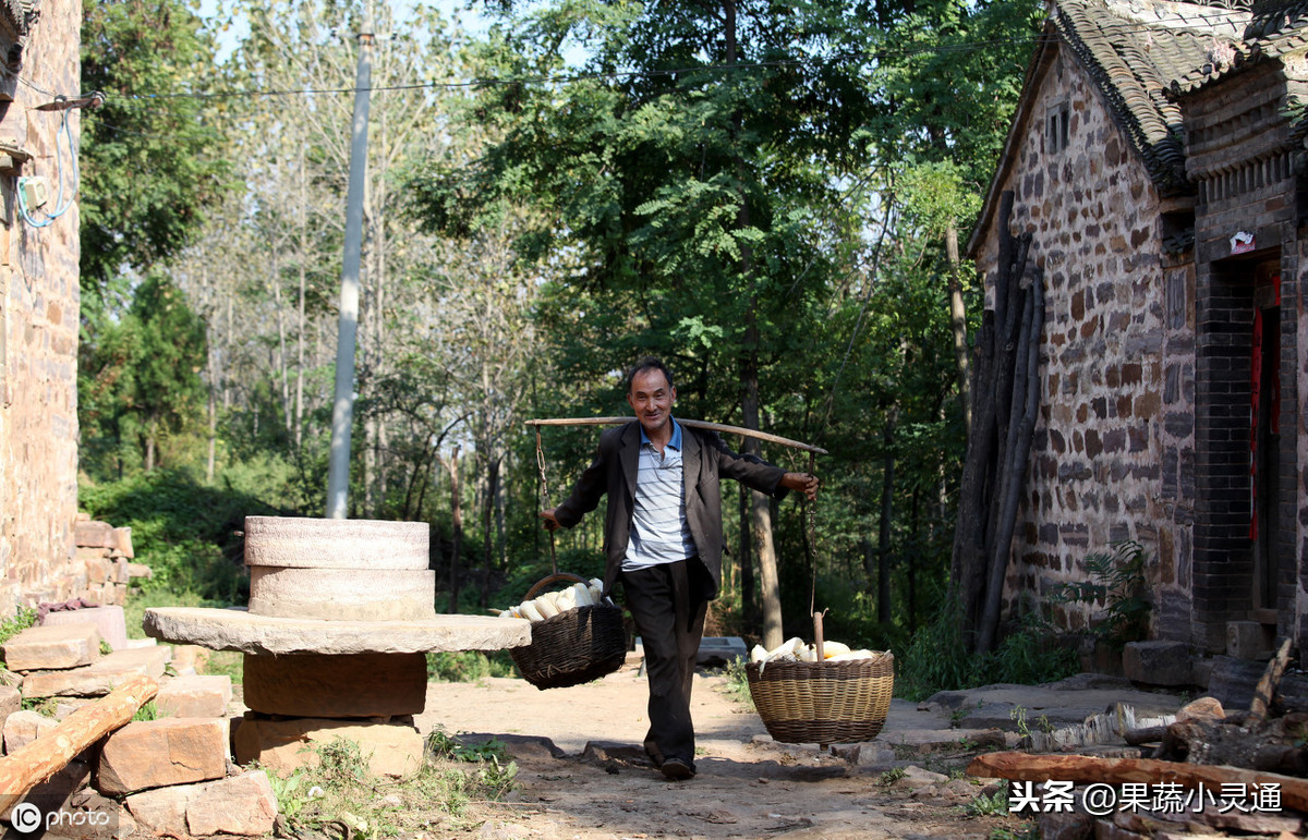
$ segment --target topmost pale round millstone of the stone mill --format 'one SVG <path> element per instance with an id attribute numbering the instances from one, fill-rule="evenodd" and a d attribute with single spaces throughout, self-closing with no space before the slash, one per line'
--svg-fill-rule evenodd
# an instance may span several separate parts
<path id="1" fill-rule="evenodd" d="M 246 565 L 426 569 L 430 530 L 426 522 L 246 517 Z"/>

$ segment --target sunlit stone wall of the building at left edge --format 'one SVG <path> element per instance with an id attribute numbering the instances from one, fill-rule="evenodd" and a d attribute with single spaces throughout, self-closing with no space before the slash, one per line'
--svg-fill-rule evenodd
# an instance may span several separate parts
<path id="1" fill-rule="evenodd" d="M 0 105 L 0 143 L 33 158 L 21 174 L 56 194 L 61 114 L 37 111 L 78 94 L 81 0 L 46 0 L 31 26 L 13 102 Z M 80 137 L 80 114 L 69 114 Z M 67 170 L 68 150 L 64 165 Z M 67 173 L 65 173 L 67 174 Z M 77 208 L 47 228 L 18 216 L 14 178 L 0 177 L 0 615 L 20 601 L 72 597 L 77 505 Z M 85 577 L 82 572 L 81 577 Z"/>

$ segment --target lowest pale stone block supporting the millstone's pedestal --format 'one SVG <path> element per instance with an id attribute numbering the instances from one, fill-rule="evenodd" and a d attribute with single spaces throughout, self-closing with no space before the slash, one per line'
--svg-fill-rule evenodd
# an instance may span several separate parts
<path id="1" fill-rule="evenodd" d="M 279 775 L 289 775 L 297 767 L 317 767 L 314 747 L 339 738 L 357 743 L 377 776 L 408 776 L 422 767 L 422 737 L 408 724 L 311 717 L 271 721 L 247 712 L 232 742 L 238 764 L 259 761 Z"/>

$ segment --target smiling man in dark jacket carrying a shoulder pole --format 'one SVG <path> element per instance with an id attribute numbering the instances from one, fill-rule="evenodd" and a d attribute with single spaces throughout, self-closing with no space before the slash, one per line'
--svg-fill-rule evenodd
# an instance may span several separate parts
<path id="1" fill-rule="evenodd" d="M 691 687 L 708 602 L 722 584 L 719 478 L 782 499 L 818 496 L 818 479 L 738 455 L 713 432 L 672 419 L 676 386 L 658 359 L 627 377 L 636 420 L 604 432 L 572 495 L 543 510 L 545 529 L 572 527 L 608 495 L 604 590 L 623 581 L 627 607 L 645 645 L 650 727 L 645 750 L 670 780 L 695 775 Z"/>

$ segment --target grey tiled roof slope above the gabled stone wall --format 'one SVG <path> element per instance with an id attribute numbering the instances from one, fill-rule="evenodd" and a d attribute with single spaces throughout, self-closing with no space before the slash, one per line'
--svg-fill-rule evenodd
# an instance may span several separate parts
<path id="1" fill-rule="evenodd" d="M 1159 190 L 1189 190 L 1181 109 L 1167 92 L 1172 80 L 1209 60 L 1215 38 L 1237 37 L 1249 13 L 1185 3 L 1059 0 L 1050 20 Z"/>

